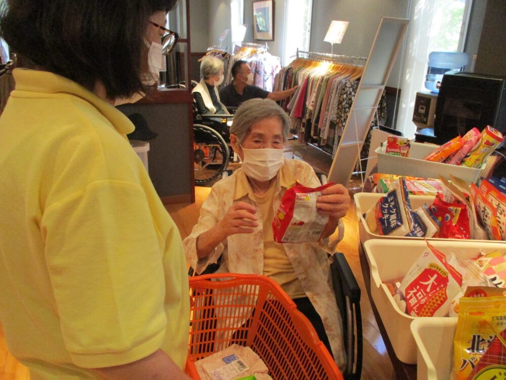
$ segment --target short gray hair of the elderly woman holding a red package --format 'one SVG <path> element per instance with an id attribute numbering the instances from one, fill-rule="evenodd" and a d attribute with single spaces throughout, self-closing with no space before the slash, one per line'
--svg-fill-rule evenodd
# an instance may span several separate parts
<path id="1" fill-rule="evenodd" d="M 286 141 L 290 133 L 290 118 L 286 115 L 283 108 L 270 99 L 250 99 L 242 103 L 235 112 L 230 133 L 236 135 L 239 142 L 242 143 L 251 130 L 252 125 L 270 118 L 279 119 L 283 141 Z"/>

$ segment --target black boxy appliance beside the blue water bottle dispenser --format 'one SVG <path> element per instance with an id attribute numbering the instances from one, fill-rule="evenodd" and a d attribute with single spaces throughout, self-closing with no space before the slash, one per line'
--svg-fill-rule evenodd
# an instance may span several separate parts
<path id="1" fill-rule="evenodd" d="M 415 137 L 417 141 L 443 144 L 487 125 L 506 133 L 506 78 L 457 72 L 443 76 L 434 129 L 419 130 Z"/>

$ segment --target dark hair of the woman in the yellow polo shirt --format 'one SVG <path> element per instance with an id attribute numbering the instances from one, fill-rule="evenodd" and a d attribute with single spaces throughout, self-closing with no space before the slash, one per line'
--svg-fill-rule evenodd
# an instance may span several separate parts
<path id="1" fill-rule="evenodd" d="M 144 37 L 149 17 L 178 0 L 7 0 L 0 36 L 23 62 L 110 99 L 146 92 Z"/>

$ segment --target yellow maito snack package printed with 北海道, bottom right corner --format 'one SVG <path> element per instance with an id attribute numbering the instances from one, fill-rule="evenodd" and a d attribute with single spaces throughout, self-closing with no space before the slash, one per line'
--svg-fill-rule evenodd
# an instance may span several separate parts
<path id="1" fill-rule="evenodd" d="M 506 297 L 462 297 L 453 340 L 456 380 L 503 379 Z"/>

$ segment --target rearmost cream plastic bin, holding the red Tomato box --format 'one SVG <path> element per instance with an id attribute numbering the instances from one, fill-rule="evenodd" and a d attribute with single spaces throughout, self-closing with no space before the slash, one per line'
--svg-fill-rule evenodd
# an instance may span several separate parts
<path id="1" fill-rule="evenodd" d="M 441 164 L 439 162 L 425 161 L 439 145 L 421 144 L 411 142 L 408 157 L 392 156 L 385 153 L 387 142 L 383 146 L 376 148 L 378 156 L 378 173 L 409 175 L 422 178 L 439 178 L 442 175 L 445 179 L 450 179 L 450 174 L 458 177 L 468 183 L 476 182 L 480 177 L 485 164 L 480 169 L 468 168 L 466 166 Z"/>

